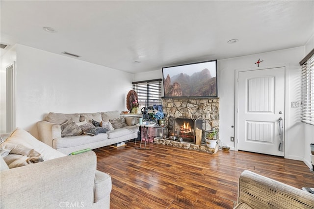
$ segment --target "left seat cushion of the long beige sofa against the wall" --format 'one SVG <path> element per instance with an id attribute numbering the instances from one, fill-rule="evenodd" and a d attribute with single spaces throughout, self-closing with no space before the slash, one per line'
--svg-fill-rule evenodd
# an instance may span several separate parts
<path id="1" fill-rule="evenodd" d="M 52 146 L 54 149 L 75 147 L 79 145 L 90 144 L 98 141 L 103 141 L 108 138 L 106 133 L 100 133 L 97 136 L 91 136 L 82 134 L 79 136 L 69 136 L 69 137 L 60 137 L 55 138 L 52 141 Z M 88 146 L 86 148 L 89 148 Z"/>

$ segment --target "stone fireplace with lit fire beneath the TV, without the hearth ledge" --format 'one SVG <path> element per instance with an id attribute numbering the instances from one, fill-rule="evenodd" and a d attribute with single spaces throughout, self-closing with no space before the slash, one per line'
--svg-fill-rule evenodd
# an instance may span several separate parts
<path id="1" fill-rule="evenodd" d="M 182 137 L 195 144 L 195 130 L 202 130 L 202 143 L 207 131 L 215 128 L 219 140 L 219 98 L 214 99 L 162 99 L 162 108 L 168 128 L 168 137 Z"/>

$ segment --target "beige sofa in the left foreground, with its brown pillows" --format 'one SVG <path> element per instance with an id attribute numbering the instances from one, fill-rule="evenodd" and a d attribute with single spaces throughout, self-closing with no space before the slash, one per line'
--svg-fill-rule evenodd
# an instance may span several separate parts
<path id="1" fill-rule="evenodd" d="M 111 177 L 93 151 L 66 156 L 21 129 L 0 138 L 1 209 L 110 208 Z M 35 152 L 44 161 L 30 162 Z"/>

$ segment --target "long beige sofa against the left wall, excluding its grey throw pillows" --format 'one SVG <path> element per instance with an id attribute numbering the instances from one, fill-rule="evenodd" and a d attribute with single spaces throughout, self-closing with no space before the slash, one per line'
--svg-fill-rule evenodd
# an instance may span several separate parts
<path id="1" fill-rule="evenodd" d="M 66 121 L 72 119 L 76 123 L 92 120 L 97 122 L 110 122 L 121 119 L 119 111 L 107 111 L 96 113 L 49 113 L 43 121 L 37 122 L 39 140 L 48 144 L 66 155 L 86 148 L 96 149 L 123 141 L 137 138 L 138 127 L 135 126 L 133 117 L 124 117 L 126 126 L 116 128 L 106 133 L 99 133 L 95 136 L 81 134 L 76 136 L 61 136 L 61 126 Z"/>

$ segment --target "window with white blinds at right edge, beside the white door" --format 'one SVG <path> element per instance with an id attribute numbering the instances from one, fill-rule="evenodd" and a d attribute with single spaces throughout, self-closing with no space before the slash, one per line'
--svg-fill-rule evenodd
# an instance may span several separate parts
<path id="1" fill-rule="evenodd" d="M 301 122 L 314 125 L 314 49 L 300 62 L 302 66 Z"/>

